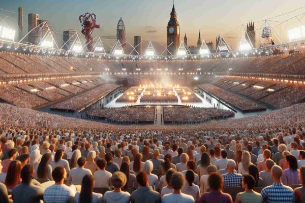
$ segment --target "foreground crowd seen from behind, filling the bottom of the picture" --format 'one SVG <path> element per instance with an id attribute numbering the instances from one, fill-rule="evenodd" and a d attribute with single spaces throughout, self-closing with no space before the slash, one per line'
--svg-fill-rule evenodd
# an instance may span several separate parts
<path id="1" fill-rule="evenodd" d="M 0 136 L 1 202 L 305 200 L 303 122 L 187 131 L 2 125 Z"/>

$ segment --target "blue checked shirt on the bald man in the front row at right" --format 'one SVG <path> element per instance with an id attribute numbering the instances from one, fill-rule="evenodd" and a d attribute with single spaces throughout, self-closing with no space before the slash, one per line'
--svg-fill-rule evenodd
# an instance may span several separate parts
<path id="1" fill-rule="evenodd" d="M 285 186 L 282 183 L 273 183 L 265 187 L 261 194 L 263 202 L 267 203 L 292 203 L 294 202 L 294 193 L 291 187 Z"/>

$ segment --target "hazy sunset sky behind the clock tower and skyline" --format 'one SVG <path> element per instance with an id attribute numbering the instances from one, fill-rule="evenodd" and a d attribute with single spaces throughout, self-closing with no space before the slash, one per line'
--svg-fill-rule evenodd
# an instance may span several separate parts
<path id="1" fill-rule="evenodd" d="M 192 1 L 192 4 L 187 4 L 186 1 L 176 0 L 175 8 L 177 19 L 180 24 L 181 36 L 184 36 L 184 33 L 187 33 L 188 46 L 196 46 L 199 30 L 201 30 L 202 40 L 205 40 L 206 42 L 215 42 L 215 38 L 219 34 L 225 33 L 226 30 L 229 31 L 236 25 L 245 24 L 251 20 L 263 20 L 267 17 L 282 14 L 285 11 L 287 12 L 287 10 L 299 8 L 301 3 L 301 1 L 298 0 L 289 2 L 289 4 L 284 1 L 277 1 L 277 4 L 273 4 L 274 2 L 276 1 L 259 1 L 254 6 L 250 4 L 250 1 L 230 1 L 231 5 L 238 5 L 238 8 L 236 9 L 229 7 L 227 2 L 221 3 L 220 1 L 215 1 L 211 3 L 209 1 L 194 0 Z M 151 40 L 166 44 L 166 24 L 170 17 L 172 4 L 172 1 L 161 0 L 135 0 L 132 2 L 114 0 L 103 2 L 93 1 L 91 4 L 86 4 L 86 7 L 83 2 L 76 0 L 73 3 L 73 10 L 67 13 L 65 10 L 71 7 L 71 3 L 52 1 L 51 4 L 50 2 L 40 2 L 36 0 L 13 0 L 3 4 L 1 9 L 17 13 L 18 7 L 23 7 L 25 18 L 23 20 L 24 30 L 27 30 L 27 14 L 38 13 L 40 19 L 49 20 L 49 24 L 53 26 L 55 32 L 63 32 L 68 29 L 75 29 L 80 32 L 81 26 L 78 22 L 78 16 L 85 12 L 95 13 L 97 15 L 97 23 L 101 23 L 102 28 L 95 29 L 93 36 L 101 36 L 110 39 L 116 39 L 115 31 L 117 21 L 122 17 L 126 26 L 126 40 L 131 44 L 133 44 L 134 36 L 141 36 L 142 41 Z M 262 7 L 262 5 L 269 4 L 273 4 L 273 7 L 277 7 L 277 9 L 274 9 L 277 10 L 277 12 Z M 33 7 L 33 5 L 36 6 Z M 243 11 L 247 12 L 240 12 L 241 7 L 245 8 Z M 103 12 L 98 8 L 105 8 L 106 12 Z M 158 8 L 162 9 L 160 10 Z M 255 11 L 257 8 L 261 8 L 259 14 Z M 124 12 L 120 12 L 123 10 Z M 223 12 L 224 10 L 226 10 L 226 13 Z M 17 14 L 5 11 L 1 11 L 1 14 L 15 17 L 18 20 Z M 215 18 L 215 16 L 218 16 L 219 18 Z M 233 16 L 235 17 L 233 18 Z"/>

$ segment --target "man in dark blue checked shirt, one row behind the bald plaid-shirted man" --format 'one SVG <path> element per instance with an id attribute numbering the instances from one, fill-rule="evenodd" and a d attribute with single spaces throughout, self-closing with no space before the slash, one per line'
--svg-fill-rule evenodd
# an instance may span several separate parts
<path id="1" fill-rule="evenodd" d="M 224 179 L 225 187 L 239 187 L 242 175 L 234 173 L 235 161 L 229 160 L 227 163 L 228 173 L 221 175 Z"/>

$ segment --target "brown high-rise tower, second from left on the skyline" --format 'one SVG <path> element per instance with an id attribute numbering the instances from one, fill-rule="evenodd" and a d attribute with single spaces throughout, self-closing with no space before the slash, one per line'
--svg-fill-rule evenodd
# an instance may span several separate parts
<path id="1" fill-rule="evenodd" d="M 39 15 L 37 13 L 29 13 L 28 17 L 27 17 L 27 24 L 28 24 L 28 32 L 30 32 L 32 29 L 34 29 L 37 25 L 38 25 L 38 18 Z M 29 34 L 28 34 L 28 43 L 31 44 L 38 44 L 38 39 L 41 36 L 41 29 L 40 28 L 36 28 L 34 30 L 32 30 Z"/>

